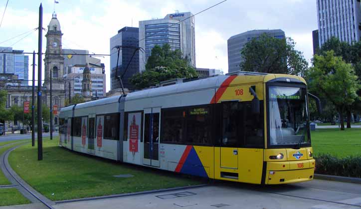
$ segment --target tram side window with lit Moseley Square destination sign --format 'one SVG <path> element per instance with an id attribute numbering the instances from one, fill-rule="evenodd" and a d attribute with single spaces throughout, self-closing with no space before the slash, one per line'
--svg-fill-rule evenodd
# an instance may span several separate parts
<path id="1" fill-rule="evenodd" d="M 186 142 L 190 144 L 211 144 L 212 115 L 209 106 L 188 108 L 186 120 Z"/>

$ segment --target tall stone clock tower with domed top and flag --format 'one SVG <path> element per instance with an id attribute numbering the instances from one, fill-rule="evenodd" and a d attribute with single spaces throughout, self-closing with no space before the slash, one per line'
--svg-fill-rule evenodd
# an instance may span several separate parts
<path id="1" fill-rule="evenodd" d="M 43 86 L 47 90 L 50 89 L 50 76 L 52 78 L 52 89 L 64 90 L 64 57 L 61 55 L 62 35 L 59 20 L 54 12 L 45 35 L 45 81 Z"/>

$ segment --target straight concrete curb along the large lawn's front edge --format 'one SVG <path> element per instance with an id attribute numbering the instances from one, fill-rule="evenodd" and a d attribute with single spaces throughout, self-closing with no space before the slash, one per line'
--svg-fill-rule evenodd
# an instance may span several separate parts
<path id="1" fill-rule="evenodd" d="M 170 192 L 170 191 L 177 191 L 177 190 L 193 189 L 193 188 L 199 188 L 199 187 L 205 187 L 205 186 L 209 186 L 209 185 L 202 184 L 202 185 L 194 185 L 194 186 L 176 187 L 176 188 L 170 188 L 170 189 L 151 190 L 151 191 L 143 191 L 143 192 L 136 192 L 136 193 L 126 193 L 126 194 L 119 194 L 119 195 L 107 195 L 107 196 L 92 197 L 92 198 L 81 198 L 81 199 L 73 199 L 73 200 L 55 201 L 55 203 L 56 204 L 73 203 L 73 202 L 81 202 L 81 201 L 92 201 L 92 200 L 101 200 L 101 199 L 129 197 L 129 196 L 136 196 L 136 195 L 148 195 L 148 194 L 153 194 L 153 193 L 163 193 L 163 192 Z"/>

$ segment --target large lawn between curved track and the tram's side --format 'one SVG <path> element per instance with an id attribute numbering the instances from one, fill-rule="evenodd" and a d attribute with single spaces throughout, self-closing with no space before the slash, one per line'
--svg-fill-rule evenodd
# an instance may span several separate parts
<path id="1" fill-rule="evenodd" d="M 43 160 L 37 148 L 27 144 L 12 151 L 9 163 L 31 187 L 52 201 L 132 193 L 203 182 L 171 172 L 120 164 L 68 151 L 58 146 L 59 138 L 43 141 Z M 131 174 L 131 178 L 114 175 Z"/>

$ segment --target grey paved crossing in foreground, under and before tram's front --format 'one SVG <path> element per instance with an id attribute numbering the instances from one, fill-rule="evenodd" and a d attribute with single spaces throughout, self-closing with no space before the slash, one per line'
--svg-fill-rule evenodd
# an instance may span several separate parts
<path id="1" fill-rule="evenodd" d="M 361 209 L 361 185 L 313 180 L 258 186 L 217 182 L 156 194 L 56 204 L 55 209 Z"/>

